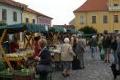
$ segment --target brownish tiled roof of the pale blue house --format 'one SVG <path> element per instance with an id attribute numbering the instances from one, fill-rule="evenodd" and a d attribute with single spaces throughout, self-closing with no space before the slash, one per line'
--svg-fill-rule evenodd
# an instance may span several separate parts
<path id="1" fill-rule="evenodd" d="M 22 8 L 22 9 L 27 7 L 27 5 L 19 3 L 19 2 L 15 2 L 13 0 L 0 0 L 0 3 L 10 5 L 13 7 L 17 7 L 17 8 Z"/>

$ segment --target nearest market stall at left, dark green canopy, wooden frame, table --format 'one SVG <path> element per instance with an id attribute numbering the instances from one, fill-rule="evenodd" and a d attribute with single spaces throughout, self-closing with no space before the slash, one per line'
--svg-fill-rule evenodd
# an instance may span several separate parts
<path id="1" fill-rule="evenodd" d="M 24 49 L 24 51 L 22 51 L 22 50 L 18 49 L 18 50 L 14 51 L 14 50 L 11 50 L 11 48 L 9 48 L 10 46 L 8 46 L 8 45 L 10 45 L 9 39 L 6 38 L 6 37 L 8 37 L 8 34 L 15 34 L 15 33 L 19 34 L 19 32 L 24 32 L 25 29 L 26 28 L 23 24 L 5 25 L 4 27 L 3 26 L 0 27 L 0 30 L 2 31 L 2 33 L 1 33 L 2 35 L 0 38 L 1 56 L 2 56 L 2 59 L 4 59 L 7 62 L 7 65 L 9 66 L 10 69 L 13 69 L 13 67 L 10 63 L 11 61 L 16 61 L 18 63 L 19 61 L 23 60 L 25 57 L 32 56 L 32 53 L 33 53 L 32 50 L 28 51 L 28 50 Z M 7 47 L 6 46 L 4 47 L 5 42 L 8 42 Z M 11 46 L 16 47 L 16 46 L 14 46 L 13 43 L 11 43 Z M 7 51 L 6 51 L 6 49 L 7 49 Z"/>

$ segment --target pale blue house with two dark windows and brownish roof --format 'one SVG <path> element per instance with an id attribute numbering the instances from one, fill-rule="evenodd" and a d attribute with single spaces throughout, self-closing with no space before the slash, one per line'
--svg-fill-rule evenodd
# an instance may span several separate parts
<path id="1" fill-rule="evenodd" d="M 4 21 L 7 25 L 22 23 L 22 9 L 24 6 L 12 0 L 1 0 L 0 21 Z"/>

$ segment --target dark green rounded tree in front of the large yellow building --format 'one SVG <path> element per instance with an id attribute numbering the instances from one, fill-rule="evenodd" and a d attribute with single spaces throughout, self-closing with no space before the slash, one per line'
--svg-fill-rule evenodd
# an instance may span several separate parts
<path id="1" fill-rule="evenodd" d="M 79 31 L 82 31 L 84 34 L 97 34 L 97 30 L 90 26 L 85 26 L 79 29 Z"/>

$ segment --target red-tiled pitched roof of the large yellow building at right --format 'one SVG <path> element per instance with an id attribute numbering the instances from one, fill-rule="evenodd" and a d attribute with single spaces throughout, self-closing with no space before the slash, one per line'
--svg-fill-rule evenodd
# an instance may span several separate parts
<path id="1" fill-rule="evenodd" d="M 107 0 L 87 0 L 74 13 L 87 11 L 108 11 Z"/>

